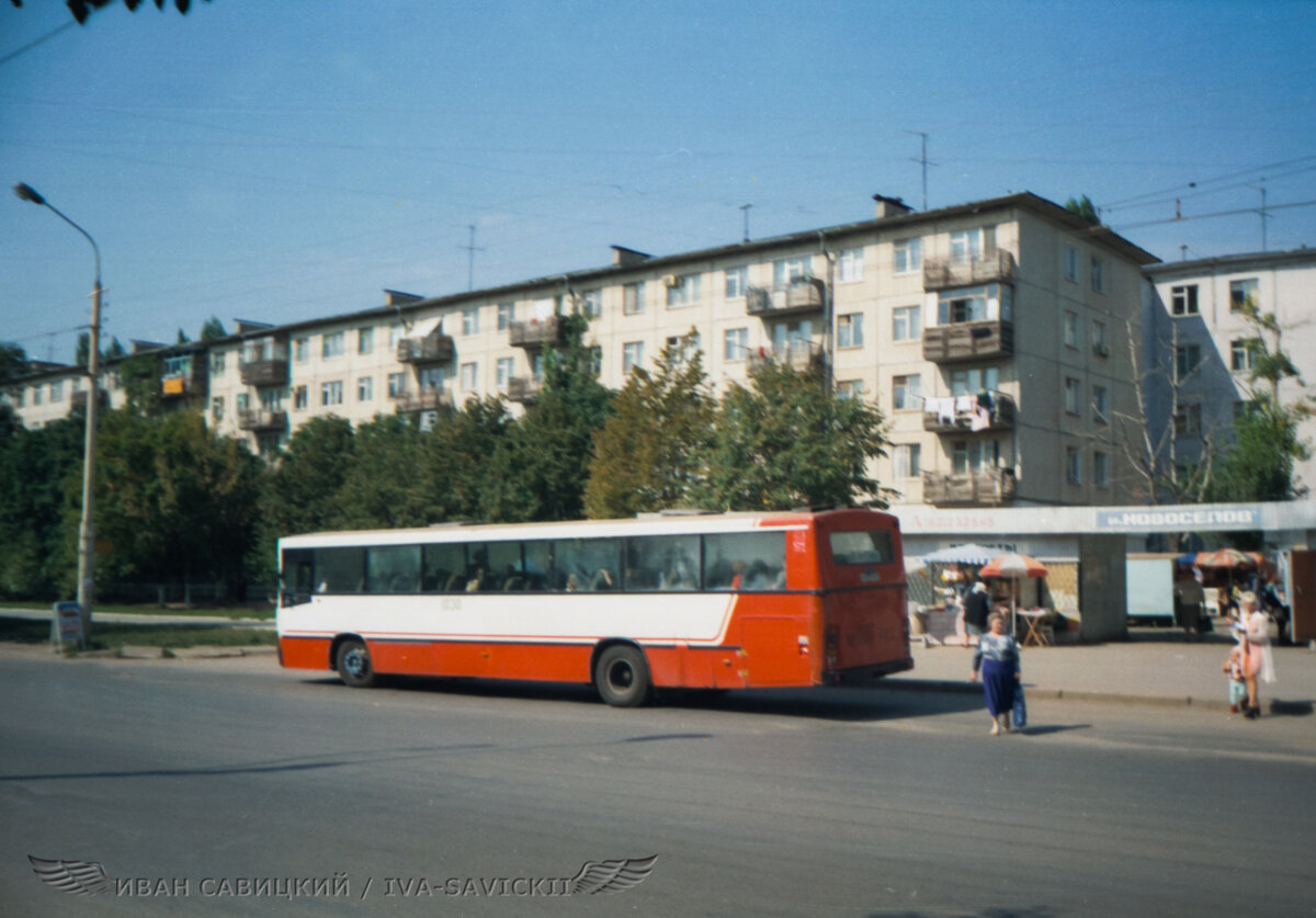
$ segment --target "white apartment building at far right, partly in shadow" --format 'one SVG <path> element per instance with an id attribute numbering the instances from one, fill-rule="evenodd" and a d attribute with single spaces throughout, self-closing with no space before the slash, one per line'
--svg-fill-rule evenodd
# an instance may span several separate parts
<path id="1" fill-rule="evenodd" d="M 1228 442 L 1234 417 L 1254 397 L 1248 341 L 1257 329 L 1240 309 L 1245 302 L 1274 314 L 1283 350 L 1304 381 L 1316 380 L 1316 251 L 1173 262 L 1146 275 L 1145 363 L 1165 368 L 1152 380 L 1152 426 L 1173 427 L 1182 462 L 1196 460 L 1208 442 Z M 1305 392 L 1287 381 L 1279 396 L 1291 402 Z M 1316 438 L 1316 421 L 1304 422 L 1300 437 Z M 1316 484 L 1316 459 L 1298 463 L 1295 475 Z"/>

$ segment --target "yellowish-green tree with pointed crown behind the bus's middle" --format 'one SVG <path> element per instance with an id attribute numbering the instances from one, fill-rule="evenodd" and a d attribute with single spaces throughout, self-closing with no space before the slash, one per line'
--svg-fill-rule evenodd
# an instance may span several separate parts
<path id="1" fill-rule="evenodd" d="M 665 347 L 653 372 L 632 370 L 615 410 L 594 437 L 586 514 L 617 518 L 692 506 L 717 413 L 694 331 Z"/>

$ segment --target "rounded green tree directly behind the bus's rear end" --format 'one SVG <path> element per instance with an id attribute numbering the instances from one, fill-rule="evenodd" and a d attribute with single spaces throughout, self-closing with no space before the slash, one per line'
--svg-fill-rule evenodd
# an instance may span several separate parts
<path id="1" fill-rule="evenodd" d="M 819 367 L 765 362 L 725 395 L 701 502 L 717 510 L 886 506 L 869 475 L 886 455 L 882 412 L 822 387 Z"/>

